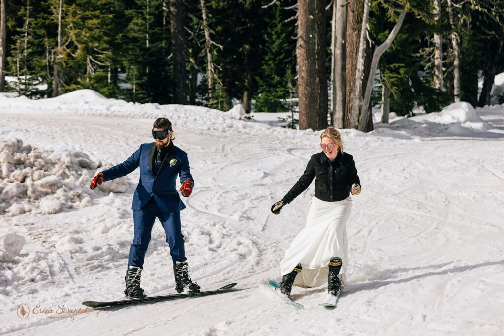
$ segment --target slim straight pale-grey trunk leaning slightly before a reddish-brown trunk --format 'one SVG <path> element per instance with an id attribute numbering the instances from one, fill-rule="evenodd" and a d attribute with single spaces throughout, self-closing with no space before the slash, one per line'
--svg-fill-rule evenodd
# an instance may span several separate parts
<path id="1" fill-rule="evenodd" d="M 359 112 L 362 106 L 362 86 L 361 83 L 364 82 L 364 44 L 366 40 L 367 25 L 369 24 L 369 2 L 370 0 L 364 0 L 364 12 L 362 14 L 362 27 L 360 30 L 359 38 L 359 51 L 357 52 L 357 65 L 355 69 L 354 87 L 352 92 L 352 112 L 350 114 L 350 127 L 358 128 L 359 123 Z M 373 77 L 374 73 L 369 74 Z M 364 107 L 362 106 L 364 109 Z M 367 105 L 365 107 L 367 109 Z"/>

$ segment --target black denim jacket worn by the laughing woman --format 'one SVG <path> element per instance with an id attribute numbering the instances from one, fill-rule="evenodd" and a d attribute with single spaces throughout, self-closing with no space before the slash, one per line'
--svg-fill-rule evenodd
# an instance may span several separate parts
<path id="1" fill-rule="evenodd" d="M 284 204 L 289 204 L 306 190 L 311 181 L 315 179 L 315 196 L 325 201 L 337 201 L 350 195 L 352 184 L 360 185 L 357 169 L 353 156 L 348 153 L 338 152 L 336 159 L 331 162 L 324 152 L 311 156 L 303 175 L 296 184 L 282 198 Z"/>

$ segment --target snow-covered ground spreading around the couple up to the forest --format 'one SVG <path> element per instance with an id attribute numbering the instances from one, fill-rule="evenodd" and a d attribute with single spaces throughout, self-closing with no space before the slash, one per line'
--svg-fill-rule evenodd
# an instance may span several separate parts
<path id="1" fill-rule="evenodd" d="M 293 289 L 302 311 L 267 287 L 304 226 L 313 185 L 279 216 L 269 209 L 320 150 L 320 132 L 229 114 L 89 90 L 39 101 L 1 95 L 0 333 L 502 334 L 504 106 L 459 103 L 370 134 L 342 131 L 362 193 L 347 225 L 349 284 L 333 311 L 318 307 L 324 287 Z M 181 213 L 192 277 L 204 289 L 244 290 L 84 310 L 82 301 L 123 296 L 139 174 L 94 191 L 90 178 L 151 142 L 158 116 L 172 120 L 196 179 Z M 174 292 L 159 222 L 142 287 Z M 57 314 L 61 305 L 73 311 Z"/>

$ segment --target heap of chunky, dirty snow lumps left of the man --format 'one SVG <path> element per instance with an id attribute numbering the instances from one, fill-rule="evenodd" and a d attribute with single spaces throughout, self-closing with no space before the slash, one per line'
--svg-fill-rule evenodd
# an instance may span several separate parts
<path id="1" fill-rule="evenodd" d="M 103 169 L 79 151 L 47 151 L 23 145 L 19 139 L 0 142 L 0 215 L 27 212 L 54 214 L 65 208 L 91 205 L 93 176 Z M 105 192 L 125 192 L 125 177 L 100 186 Z"/>

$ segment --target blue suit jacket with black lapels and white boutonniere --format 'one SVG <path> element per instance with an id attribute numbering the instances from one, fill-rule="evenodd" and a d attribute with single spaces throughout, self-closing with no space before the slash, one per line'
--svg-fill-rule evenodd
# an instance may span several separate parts
<path id="1" fill-rule="evenodd" d="M 140 180 L 133 197 L 132 209 L 142 209 L 149 199 L 154 197 L 157 206 L 164 213 L 182 210 L 185 205 L 175 188 L 175 179 L 178 174 L 180 183 L 185 179 L 190 179 L 194 183 L 187 153 L 173 144 L 157 176 L 154 176 L 152 164 L 155 149 L 155 143 L 140 145 L 140 148 L 128 160 L 103 171 L 105 181 L 128 175 L 140 166 Z"/>

